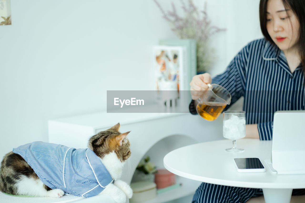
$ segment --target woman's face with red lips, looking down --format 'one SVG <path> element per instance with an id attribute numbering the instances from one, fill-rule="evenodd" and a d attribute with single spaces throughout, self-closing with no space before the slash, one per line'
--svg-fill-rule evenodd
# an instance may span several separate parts
<path id="1" fill-rule="evenodd" d="M 291 9 L 285 10 L 282 0 L 268 1 L 266 27 L 271 39 L 281 50 L 297 50 L 300 23 Z"/>

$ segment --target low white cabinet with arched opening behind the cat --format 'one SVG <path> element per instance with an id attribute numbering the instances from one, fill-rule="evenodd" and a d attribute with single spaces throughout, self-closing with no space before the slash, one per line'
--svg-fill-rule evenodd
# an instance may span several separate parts
<path id="1" fill-rule="evenodd" d="M 164 168 L 164 155 L 176 148 L 223 139 L 222 116 L 219 117 L 209 122 L 189 113 L 99 112 L 50 120 L 49 142 L 87 148 L 92 135 L 120 123 L 120 132 L 131 131 L 127 136 L 131 143 L 131 158 L 122 174 L 122 180 L 130 183 L 138 162 L 145 155 L 149 155 L 158 168 Z M 177 177 L 177 183 L 182 183 L 182 187 L 160 194 L 147 203 L 161 203 L 194 194 L 200 184 L 182 177 Z"/>

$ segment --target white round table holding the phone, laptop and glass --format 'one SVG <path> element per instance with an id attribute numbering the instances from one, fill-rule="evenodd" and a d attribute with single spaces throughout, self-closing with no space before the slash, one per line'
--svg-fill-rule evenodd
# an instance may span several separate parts
<path id="1" fill-rule="evenodd" d="M 243 152 L 227 152 L 231 140 L 192 144 L 168 153 L 163 163 L 167 170 L 185 178 L 235 187 L 263 188 L 266 203 L 289 203 L 292 189 L 305 188 L 305 175 L 271 173 L 264 160 L 271 159 L 272 141 L 239 139 Z M 239 173 L 234 158 L 257 157 L 266 168 L 263 173 Z"/>

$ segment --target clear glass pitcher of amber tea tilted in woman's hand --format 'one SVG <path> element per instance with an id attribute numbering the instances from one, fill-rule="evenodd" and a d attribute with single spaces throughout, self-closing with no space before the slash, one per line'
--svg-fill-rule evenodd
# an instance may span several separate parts
<path id="1" fill-rule="evenodd" d="M 231 102 L 231 94 L 224 87 L 217 84 L 207 84 L 209 89 L 201 98 L 197 99 L 197 113 L 208 121 L 213 121 L 221 114 L 226 105 Z"/>

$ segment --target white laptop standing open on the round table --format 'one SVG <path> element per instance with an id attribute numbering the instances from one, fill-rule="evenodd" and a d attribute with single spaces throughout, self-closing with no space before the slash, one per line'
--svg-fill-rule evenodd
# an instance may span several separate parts
<path id="1" fill-rule="evenodd" d="M 273 119 L 271 172 L 305 174 L 305 110 L 277 111 Z"/>

